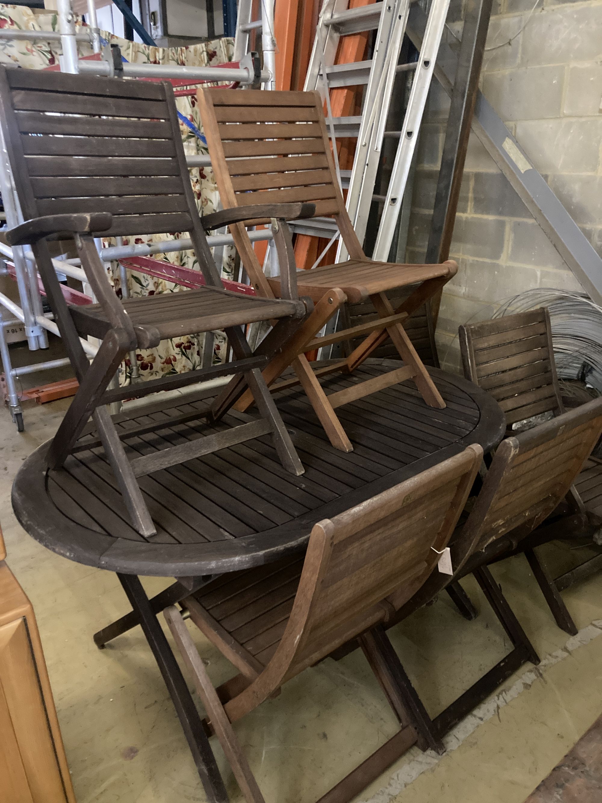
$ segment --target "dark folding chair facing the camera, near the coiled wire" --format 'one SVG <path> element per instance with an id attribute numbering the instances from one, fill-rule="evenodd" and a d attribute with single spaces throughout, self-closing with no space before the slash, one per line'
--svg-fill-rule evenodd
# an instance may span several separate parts
<path id="1" fill-rule="evenodd" d="M 506 414 L 509 432 L 513 424 L 532 416 L 563 414 L 546 308 L 466 324 L 460 327 L 459 334 L 466 378 L 495 398 Z M 587 512 L 588 519 L 585 529 L 581 525 L 571 533 L 571 528 L 563 528 L 560 537 L 582 538 L 592 531 L 602 532 L 602 460 L 590 456 L 567 495 L 567 504 L 577 516 Z M 533 548 L 526 548 L 525 556 L 558 626 L 575 635 L 575 622 L 560 591 L 602 569 L 602 549 L 576 569 L 555 578 Z"/>

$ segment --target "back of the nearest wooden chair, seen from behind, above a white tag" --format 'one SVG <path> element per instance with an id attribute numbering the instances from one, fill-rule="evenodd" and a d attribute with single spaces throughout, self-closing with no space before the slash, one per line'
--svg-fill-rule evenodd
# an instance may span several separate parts
<path id="1" fill-rule="evenodd" d="M 299 589 L 266 668 L 297 675 L 349 638 L 386 622 L 436 569 L 466 503 L 480 446 L 315 524 Z"/>

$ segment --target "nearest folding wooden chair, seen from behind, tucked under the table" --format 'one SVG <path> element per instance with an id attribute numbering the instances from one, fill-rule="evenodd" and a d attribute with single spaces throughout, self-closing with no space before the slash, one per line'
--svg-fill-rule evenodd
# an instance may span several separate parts
<path id="1" fill-rule="evenodd" d="M 401 731 L 336 785 L 323 803 L 343 803 L 418 740 L 441 749 L 415 728 L 400 705 L 400 664 L 384 633 L 387 622 L 437 566 L 482 459 L 468 446 L 444 463 L 315 524 L 307 554 L 259 569 L 218 577 L 183 601 L 190 619 L 239 670 L 214 688 L 175 606 L 165 618 L 199 696 L 208 727 L 230 762 L 246 801 L 263 801 L 232 723 L 350 638 L 360 637 L 368 661 L 401 724 Z M 384 644 L 384 647 L 382 646 Z"/>

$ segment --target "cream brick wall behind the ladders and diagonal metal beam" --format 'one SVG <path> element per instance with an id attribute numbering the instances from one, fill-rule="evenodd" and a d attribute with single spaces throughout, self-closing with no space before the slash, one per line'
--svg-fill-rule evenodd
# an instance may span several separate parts
<path id="1" fill-rule="evenodd" d="M 602 0 L 494 0 L 481 89 L 602 255 Z M 462 0 L 448 18 L 462 32 Z M 524 30 L 521 31 L 521 28 Z M 519 32 L 520 31 L 520 32 Z M 448 34 L 449 42 L 454 39 Z M 449 99 L 433 83 L 418 148 L 407 259 L 424 259 Z M 442 364 L 459 369 L 458 325 L 490 318 L 531 287 L 582 288 L 471 134 L 437 327 Z"/>

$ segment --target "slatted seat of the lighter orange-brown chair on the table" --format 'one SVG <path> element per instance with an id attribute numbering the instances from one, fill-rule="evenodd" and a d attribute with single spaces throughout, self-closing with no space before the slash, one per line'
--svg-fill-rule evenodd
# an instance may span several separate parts
<path id="1" fill-rule="evenodd" d="M 311 271 L 297 273 L 297 288 L 301 296 L 319 301 L 327 290 L 336 287 L 344 292 L 351 304 L 366 301 L 376 293 L 395 287 L 419 284 L 426 279 L 447 279 L 447 265 L 404 265 L 401 263 L 372 262 L 370 259 L 350 259 L 336 265 L 322 265 Z M 267 279 L 274 295 L 279 298 L 280 277 Z"/>

